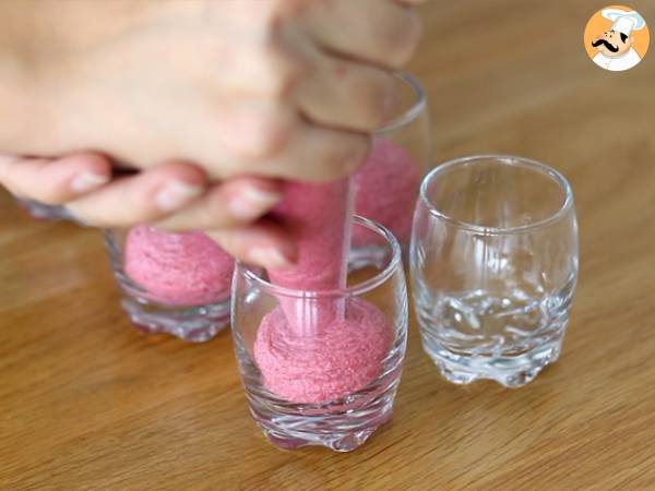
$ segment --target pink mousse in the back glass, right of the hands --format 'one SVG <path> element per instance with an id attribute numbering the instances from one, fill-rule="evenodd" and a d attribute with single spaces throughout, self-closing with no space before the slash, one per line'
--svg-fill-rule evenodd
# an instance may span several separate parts
<path id="1" fill-rule="evenodd" d="M 355 176 L 355 212 L 386 227 L 406 243 L 418 195 L 420 172 L 417 163 L 395 143 L 377 137 L 371 154 Z M 353 242 L 364 246 L 377 238 L 355 230 Z"/>

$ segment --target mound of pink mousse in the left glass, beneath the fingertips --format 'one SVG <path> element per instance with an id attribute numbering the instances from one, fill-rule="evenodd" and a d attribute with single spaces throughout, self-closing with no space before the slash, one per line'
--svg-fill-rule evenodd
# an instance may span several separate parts
<path id="1" fill-rule="evenodd" d="M 167 233 L 132 228 L 124 270 L 147 298 L 171 306 L 199 306 L 229 297 L 234 259 L 201 232 Z"/>

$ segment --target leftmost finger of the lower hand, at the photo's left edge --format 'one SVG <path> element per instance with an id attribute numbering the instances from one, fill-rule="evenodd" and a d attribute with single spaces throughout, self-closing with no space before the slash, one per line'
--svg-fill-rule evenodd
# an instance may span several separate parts
<path id="1" fill-rule="evenodd" d="M 0 183 L 13 194 L 46 204 L 64 204 L 98 190 L 111 179 L 111 164 L 99 154 L 57 159 L 0 155 Z"/>

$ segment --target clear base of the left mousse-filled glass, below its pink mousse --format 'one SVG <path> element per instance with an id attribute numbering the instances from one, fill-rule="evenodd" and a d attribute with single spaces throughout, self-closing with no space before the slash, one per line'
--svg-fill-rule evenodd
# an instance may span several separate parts
<path id="1" fill-rule="evenodd" d="M 207 306 L 171 307 L 123 298 L 122 308 L 136 330 L 166 333 L 189 343 L 204 343 L 229 324 L 229 299 Z"/>

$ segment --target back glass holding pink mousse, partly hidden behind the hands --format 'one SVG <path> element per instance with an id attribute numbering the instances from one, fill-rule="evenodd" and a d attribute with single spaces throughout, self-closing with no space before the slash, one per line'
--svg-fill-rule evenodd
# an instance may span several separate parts
<path id="1" fill-rule="evenodd" d="M 405 72 L 395 76 L 396 113 L 374 132 L 369 158 L 355 176 L 355 212 L 388 228 L 405 251 L 420 181 L 431 160 L 430 122 L 418 81 Z M 374 259 L 380 240 L 359 233 L 353 237 L 358 255 Z"/>

